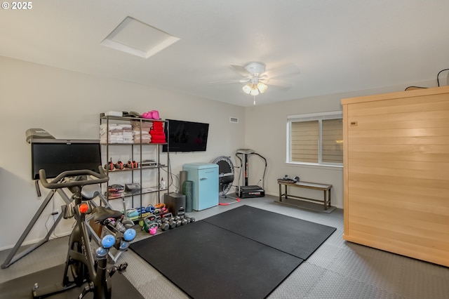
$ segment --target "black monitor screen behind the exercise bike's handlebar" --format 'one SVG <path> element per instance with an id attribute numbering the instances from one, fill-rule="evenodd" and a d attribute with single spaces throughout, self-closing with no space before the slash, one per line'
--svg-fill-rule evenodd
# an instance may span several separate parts
<path id="1" fill-rule="evenodd" d="M 31 142 L 32 179 L 39 180 L 39 169 L 47 178 L 63 171 L 88 169 L 98 173 L 101 165 L 99 140 L 36 139 Z"/>

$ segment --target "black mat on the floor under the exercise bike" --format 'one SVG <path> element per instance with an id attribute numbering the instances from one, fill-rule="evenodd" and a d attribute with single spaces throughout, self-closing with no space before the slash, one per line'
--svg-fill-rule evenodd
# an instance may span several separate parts
<path id="1" fill-rule="evenodd" d="M 14 299 L 30 299 L 33 298 L 32 287 L 35 282 L 39 282 L 40 286 L 48 286 L 50 284 L 58 284 L 62 281 L 62 275 L 64 274 L 64 266 L 58 265 L 48 268 L 39 272 L 25 275 L 10 281 L 6 281 L 0 284 L 0 297 L 1 298 L 14 298 Z M 128 270 L 129 271 L 129 270 Z M 142 298 L 142 295 L 134 288 L 132 284 L 123 276 L 123 274 L 116 273 L 111 277 L 112 281 L 112 298 Z M 83 285 L 84 286 L 84 285 Z M 49 299 L 73 299 L 78 298 L 79 294 L 83 291 L 83 286 L 74 287 L 63 293 L 51 295 Z M 83 299 L 92 299 L 93 293 L 87 293 Z"/>

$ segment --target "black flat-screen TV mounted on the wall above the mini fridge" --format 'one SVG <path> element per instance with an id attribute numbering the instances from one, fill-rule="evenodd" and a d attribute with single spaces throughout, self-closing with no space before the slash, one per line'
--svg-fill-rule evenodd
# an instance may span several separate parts
<path id="1" fill-rule="evenodd" d="M 163 145 L 163 152 L 205 152 L 208 144 L 209 124 L 194 121 L 178 121 L 166 119 L 165 126 L 167 145 Z M 168 128 L 168 130 L 167 130 Z M 170 132 L 170 133 L 168 133 Z"/>

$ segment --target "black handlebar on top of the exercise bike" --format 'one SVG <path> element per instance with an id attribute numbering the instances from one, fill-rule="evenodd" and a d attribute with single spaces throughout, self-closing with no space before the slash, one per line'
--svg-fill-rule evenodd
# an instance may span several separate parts
<path id="1" fill-rule="evenodd" d="M 76 186 L 84 186 L 84 185 L 93 185 L 100 184 L 102 182 L 107 182 L 109 177 L 106 175 L 102 166 L 98 166 L 98 170 L 100 173 L 96 173 L 95 171 L 91 171 L 88 169 L 81 169 L 76 171 L 64 171 L 60 173 L 56 178 L 53 178 L 50 182 L 48 182 L 46 173 L 44 169 L 39 170 L 39 178 L 43 187 L 48 189 L 60 189 L 66 187 L 76 187 Z M 93 180 L 75 180 L 71 182 L 60 182 L 63 178 L 68 178 L 72 176 L 78 175 L 92 175 L 96 179 Z"/>

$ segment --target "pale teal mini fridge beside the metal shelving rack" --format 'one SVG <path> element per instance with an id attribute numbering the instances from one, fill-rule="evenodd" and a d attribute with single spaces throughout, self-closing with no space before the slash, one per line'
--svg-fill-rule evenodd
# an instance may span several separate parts
<path id="1" fill-rule="evenodd" d="M 218 205 L 218 164 L 189 163 L 182 166 L 193 182 L 192 208 L 201 211 Z"/>

